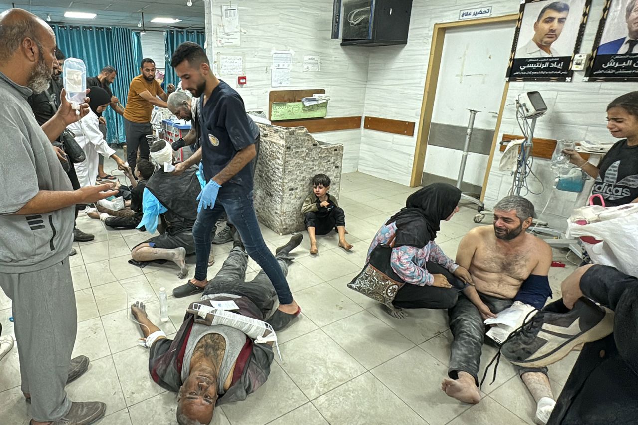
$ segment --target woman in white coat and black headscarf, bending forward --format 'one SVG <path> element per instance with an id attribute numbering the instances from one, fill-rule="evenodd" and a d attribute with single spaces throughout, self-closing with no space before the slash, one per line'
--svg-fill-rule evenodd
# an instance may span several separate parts
<path id="1" fill-rule="evenodd" d="M 101 87 L 90 87 L 89 91 L 89 106 L 91 106 L 91 112 L 82 120 L 75 122 L 68 126 L 68 129 L 75 134 L 75 141 L 84 150 L 86 159 L 78 164 L 75 164 L 75 172 L 78 176 L 78 181 L 81 187 L 92 186 L 96 184 L 96 178 L 98 175 L 98 162 L 100 155 L 104 157 L 111 157 L 117 162 L 117 169 L 124 170 L 124 161 L 122 161 L 113 150 L 100 131 L 100 121 L 96 113 L 103 112 L 110 103 L 110 96 L 106 90 Z"/>

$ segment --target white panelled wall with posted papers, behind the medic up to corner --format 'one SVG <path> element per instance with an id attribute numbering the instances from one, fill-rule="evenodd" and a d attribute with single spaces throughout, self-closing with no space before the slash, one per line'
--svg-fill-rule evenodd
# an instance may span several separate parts
<path id="1" fill-rule="evenodd" d="M 369 51 L 342 48 L 340 40 L 330 39 L 332 0 L 251 0 L 239 5 L 240 47 L 212 47 L 219 55 L 243 57 L 245 87 L 237 87 L 237 75 L 220 75 L 244 99 L 247 109 L 268 108 L 269 92 L 282 89 L 325 89 L 332 97 L 328 117 L 363 115 Z M 212 2 L 212 25 L 221 24 L 221 1 Z M 216 40 L 207 26 L 208 40 Z M 271 87 L 272 50 L 292 50 L 290 86 Z M 210 51 L 210 49 L 209 49 Z M 321 71 L 302 72 L 304 55 L 319 55 Z M 218 68 L 215 68 L 218 74 Z M 357 171 L 361 130 L 316 133 L 328 143 L 343 143 L 343 171 Z"/>

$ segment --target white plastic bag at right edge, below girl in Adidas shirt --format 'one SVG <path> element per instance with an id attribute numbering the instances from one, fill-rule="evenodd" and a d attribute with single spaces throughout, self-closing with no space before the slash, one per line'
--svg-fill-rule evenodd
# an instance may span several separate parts
<path id="1" fill-rule="evenodd" d="M 583 208 L 594 208 L 583 207 Z M 582 208 L 567 220 L 567 237 L 591 236 L 600 243 L 585 243 L 585 250 L 595 264 L 612 266 L 630 276 L 638 277 L 638 203 L 596 208 L 597 220 L 579 225 L 575 220 L 582 218 Z M 587 215 L 587 214 L 586 214 Z"/>

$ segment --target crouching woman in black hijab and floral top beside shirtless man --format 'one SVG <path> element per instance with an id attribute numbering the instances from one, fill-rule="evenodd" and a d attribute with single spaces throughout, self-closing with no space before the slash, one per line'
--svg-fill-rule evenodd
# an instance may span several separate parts
<path id="1" fill-rule="evenodd" d="M 441 220 L 450 220 L 459 210 L 461 191 L 445 183 L 434 183 L 408 196 L 402 208 L 379 229 L 368 250 L 376 245 L 392 247 L 390 266 L 406 282 L 396 294 L 394 317 L 406 315 L 402 308 L 450 308 L 458 292 L 470 282 L 470 273 L 455 264 L 434 243 Z"/>

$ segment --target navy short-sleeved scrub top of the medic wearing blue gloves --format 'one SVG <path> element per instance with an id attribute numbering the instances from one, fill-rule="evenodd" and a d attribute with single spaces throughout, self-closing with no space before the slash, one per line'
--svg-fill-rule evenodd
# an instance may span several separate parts
<path id="1" fill-rule="evenodd" d="M 200 145 L 206 181 L 225 168 L 239 150 L 255 143 L 255 123 L 246 115 L 239 93 L 223 81 L 212 90 L 204 104 L 200 97 Z M 258 134 L 258 133 L 257 133 Z M 251 166 L 247 164 L 219 189 L 219 198 L 246 194 L 253 190 Z"/>

